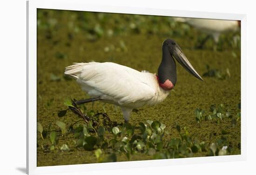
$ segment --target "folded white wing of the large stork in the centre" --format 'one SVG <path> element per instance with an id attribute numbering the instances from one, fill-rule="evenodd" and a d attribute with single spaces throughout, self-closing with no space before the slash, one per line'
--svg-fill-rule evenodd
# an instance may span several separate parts
<path id="1" fill-rule="evenodd" d="M 76 76 L 120 105 L 147 101 L 155 95 L 152 74 L 116 63 L 76 63 L 67 67 L 65 74 Z"/>

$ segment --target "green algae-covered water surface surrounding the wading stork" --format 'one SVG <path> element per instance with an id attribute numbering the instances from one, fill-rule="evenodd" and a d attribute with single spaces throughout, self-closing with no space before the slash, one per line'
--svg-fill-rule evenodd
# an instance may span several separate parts
<path id="1" fill-rule="evenodd" d="M 177 63 L 177 83 L 167 99 L 156 106 L 139 108 L 132 113 L 129 122 L 135 125 L 147 119 L 161 121 L 170 133 L 166 139 L 179 137 L 176 125 L 186 127 L 189 134 L 206 142 L 215 142 L 225 130 L 228 132 L 225 137 L 232 147 L 230 154 L 241 153 L 240 119 L 232 127 L 229 119 L 197 123 L 194 115 L 196 108 L 209 113 L 212 104 L 223 104 L 225 110 L 234 116 L 239 112 L 241 59 L 239 44 L 233 40 L 233 36 L 237 37 L 239 33 L 222 35 L 217 45 L 209 40 L 204 49 L 196 50 L 197 39 L 204 37 L 204 34 L 169 17 L 44 9 L 38 10 L 37 29 L 37 121 L 44 128 L 50 126 L 52 130 L 59 131 L 56 121 L 63 121 L 67 125 L 77 121 L 74 113 L 68 112 L 63 118 L 59 118 L 57 113 L 66 109 L 63 102 L 67 98 L 80 100 L 89 97 L 74 80 L 63 76 L 65 67 L 89 61 L 114 62 L 156 73 L 162 59 L 162 42 L 172 38 L 200 75 L 207 71 L 206 65 L 209 65 L 224 73 L 229 69 L 230 76 L 223 80 L 206 76 L 202 77 L 204 81 L 199 81 Z M 92 104 L 86 106 L 92 108 Z M 93 107 L 94 111 L 103 112 L 101 102 L 95 102 Z M 109 104 L 104 107 L 113 121 L 123 122 L 119 108 Z M 97 162 L 94 151 L 75 147 L 73 133 L 62 137 L 58 132 L 57 137 L 59 146 L 67 144 L 71 150 L 43 149 L 50 141 L 48 138 L 42 140 L 38 132 L 37 166 Z M 206 154 L 198 152 L 194 156 Z M 148 159 L 152 159 L 152 156 L 142 153 L 131 156 L 131 160 Z M 118 155 L 117 160 L 128 161 L 125 155 Z"/>

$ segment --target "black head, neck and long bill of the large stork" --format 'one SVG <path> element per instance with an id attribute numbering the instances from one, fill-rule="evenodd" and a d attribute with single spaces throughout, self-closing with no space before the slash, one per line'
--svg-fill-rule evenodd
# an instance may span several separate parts
<path id="1" fill-rule="evenodd" d="M 203 79 L 195 71 L 189 60 L 182 52 L 180 46 L 172 39 L 166 39 L 162 44 L 162 62 L 158 68 L 158 77 L 160 84 L 171 81 L 175 86 L 176 83 L 176 64 L 174 58 L 185 68 L 191 75 L 199 80 Z"/>

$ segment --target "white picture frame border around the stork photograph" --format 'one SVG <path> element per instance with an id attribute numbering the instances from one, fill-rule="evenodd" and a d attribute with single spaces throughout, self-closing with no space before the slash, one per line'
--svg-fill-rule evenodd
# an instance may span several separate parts
<path id="1" fill-rule="evenodd" d="M 241 118 L 241 155 L 179 158 L 148 161 L 113 162 L 113 163 L 93 163 L 79 165 L 47 166 L 37 167 L 36 148 L 36 28 L 37 28 L 37 8 L 91 11 L 91 12 L 114 12 L 128 14 L 161 15 L 176 17 L 192 17 L 207 19 L 229 19 L 241 20 L 241 102 L 242 115 L 246 116 L 246 15 L 214 12 L 193 12 L 177 11 L 171 9 L 150 9 L 128 6 L 99 6 L 83 2 L 83 0 L 29 0 L 27 1 L 27 174 L 46 174 L 62 172 L 81 172 L 89 170 L 123 169 L 153 166 L 169 166 L 177 164 L 205 163 L 205 162 L 229 162 L 246 159 L 246 117 Z"/>

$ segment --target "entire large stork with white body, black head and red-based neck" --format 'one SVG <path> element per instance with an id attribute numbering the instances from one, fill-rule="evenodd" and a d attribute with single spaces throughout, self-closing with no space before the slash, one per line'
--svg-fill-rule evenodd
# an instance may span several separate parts
<path id="1" fill-rule="evenodd" d="M 190 74 L 202 80 L 181 48 L 172 39 L 162 44 L 162 62 L 158 75 L 116 63 L 74 63 L 65 69 L 87 92 L 90 99 L 76 101 L 76 104 L 101 100 L 121 107 L 123 118 L 128 122 L 131 112 L 144 105 L 162 102 L 176 83 L 176 63 L 174 58 Z M 203 81 L 203 80 L 202 80 Z"/>

